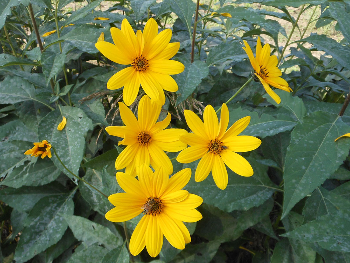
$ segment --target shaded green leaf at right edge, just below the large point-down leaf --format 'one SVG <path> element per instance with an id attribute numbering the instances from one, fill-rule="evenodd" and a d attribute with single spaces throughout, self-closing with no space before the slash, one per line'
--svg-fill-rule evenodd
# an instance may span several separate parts
<path id="1" fill-rule="evenodd" d="M 346 200 L 333 191 L 327 191 L 323 187 L 317 187 L 306 200 L 303 215 L 305 222 L 309 222 L 324 215 L 336 214 L 339 210 L 349 209 L 349 207 L 350 200 Z"/>

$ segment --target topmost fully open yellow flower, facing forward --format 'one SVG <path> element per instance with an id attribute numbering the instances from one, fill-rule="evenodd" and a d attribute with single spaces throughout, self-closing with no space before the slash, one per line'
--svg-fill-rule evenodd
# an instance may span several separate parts
<path id="1" fill-rule="evenodd" d="M 131 67 L 114 74 L 107 82 L 108 89 L 119 89 L 124 86 L 123 99 L 127 106 L 134 102 L 140 84 L 145 93 L 158 104 L 165 103 L 163 89 L 176 92 L 176 81 L 169 75 L 179 74 L 184 65 L 179 61 L 169 60 L 180 48 L 180 43 L 169 43 L 172 31 L 165 29 L 158 34 L 157 22 L 151 18 L 147 21 L 144 32 L 136 35 L 130 23 L 124 19 L 121 30 L 111 28 L 112 43 L 100 41 L 96 48 L 106 58 Z"/>

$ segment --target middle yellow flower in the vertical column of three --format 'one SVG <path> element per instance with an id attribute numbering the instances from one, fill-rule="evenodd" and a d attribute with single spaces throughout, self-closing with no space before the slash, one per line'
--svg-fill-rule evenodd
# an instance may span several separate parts
<path id="1" fill-rule="evenodd" d="M 154 169 L 163 166 L 169 175 L 173 173 L 173 164 L 164 151 L 176 152 L 187 147 L 180 142 L 179 135 L 186 134 L 184 129 L 165 129 L 171 115 L 156 122 L 162 106 L 151 101 L 147 95 L 140 100 L 138 119 L 132 111 L 119 102 L 120 116 L 126 126 L 108 126 L 108 134 L 124 138 L 118 145 L 126 145 L 116 160 L 116 169 L 126 167 L 127 174 L 139 173 L 142 164 L 152 165 Z"/>

